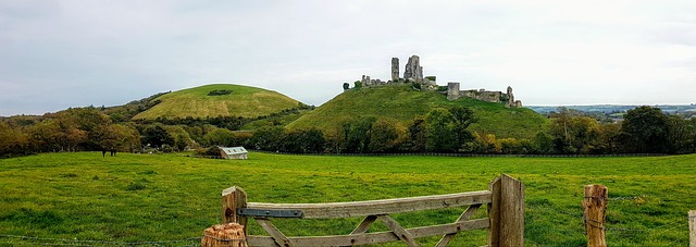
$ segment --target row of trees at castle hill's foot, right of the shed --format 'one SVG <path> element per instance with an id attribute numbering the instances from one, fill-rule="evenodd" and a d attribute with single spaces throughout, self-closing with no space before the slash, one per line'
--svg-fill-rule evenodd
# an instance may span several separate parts
<path id="1" fill-rule="evenodd" d="M 696 119 L 664 114 L 659 108 L 629 110 L 624 121 L 601 123 L 561 108 L 532 138 L 499 138 L 469 131 L 476 118 L 468 108 L 436 109 L 400 127 L 375 118 L 344 123 L 338 134 L 319 129 L 263 127 L 248 139 L 226 144 L 279 152 L 381 153 L 452 152 L 490 155 L 695 153 Z M 308 144 L 312 144 L 309 146 Z"/>

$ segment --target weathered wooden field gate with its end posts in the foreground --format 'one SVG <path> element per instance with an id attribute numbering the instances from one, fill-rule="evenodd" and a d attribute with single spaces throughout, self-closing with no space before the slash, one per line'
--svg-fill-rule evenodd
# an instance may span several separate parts
<path id="1" fill-rule="evenodd" d="M 522 245 L 524 186 L 521 182 L 504 174 L 490 183 L 489 189 L 351 202 L 265 203 L 247 202 L 244 189 L 231 187 L 222 193 L 223 223 L 236 222 L 245 225 L 246 234 L 247 218 L 253 218 L 270 236 L 247 235 L 249 246 L 353 246 L 397 240 L 405 242 L 409 246 L 420 246 L 415 238 L 437 235 L 443 237 L 436 246 L 447 246 L 457 233 L 477 229 L 488 229 L 489 246 Z M 513 195 L 515 193 L 517 195 Z M 482 205 L 487 205 L 488 217 L 469 220 Z M 389 217 L 393 213 L 463 206 L 469 207 L 456 222 L 449 224 L 403 229 Z M 349 235 L 288 237 L 271 222 L 271 218 L 277 217 L 299 219 L 365 218 Z M 376 220 L 382 221 L 389 231 L 368 233 Z"/>

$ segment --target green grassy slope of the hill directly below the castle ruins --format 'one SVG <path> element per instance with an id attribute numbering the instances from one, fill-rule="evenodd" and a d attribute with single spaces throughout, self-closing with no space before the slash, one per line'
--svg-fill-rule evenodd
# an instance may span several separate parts
<path id="1" fill-rule="evenodd" d="M 471 129 L 495 134 L 498 138 L 531 138 L 547 124 L 546 118 L 530 109 L 506 108 L 500 103 L 471 98 L 449 101 L 435 91 L 415 90 L 409 85 L 399 85 L 345 91 L 290 123 L 288 127 L 318 127 L 325 133 L 336 133 L 341 123 L 359 116 L 375 116 L 406 127 L 418 115 L 427 114 L 435 108 L 451 106 L 471 108 L 478 118 Z"/>

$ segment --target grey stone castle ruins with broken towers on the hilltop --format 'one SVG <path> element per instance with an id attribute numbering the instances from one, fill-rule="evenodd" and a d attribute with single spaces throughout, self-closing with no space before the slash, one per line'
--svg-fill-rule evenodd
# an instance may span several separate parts
<path id="1" fill-rule="evenodd" d="M 447 96 L 448 100 L 457 100 L 461 97 L 469 97 L 482 101 L 504 103 L 509 108 L 521 108 L 522 101 L 515 100 L 512 94 L 512 87 L 508 86 L 506 92 L 502 91 L 489 91 L 486 89 L 469 89 L 460 90 L 460 84 L 456 82 L 447 83 L 447 87 L 440 87 L 435 82 L 435 76 L 423 76 L 423 66 L 421 66 L 421 59 L 418 55 L 411 55 L 406 63 L 403 70 L 403 77 L 399 77 L 399 59 L 391 58 L 391 79 L 384 82 L 381 79 L 372 79 L 368 75 L 362 75 L 360 81 L 356 82 L 356 87 L 375 87 L 390 84 L 406 84 L 411 83 L 418 89 L 437 90 Z M 344 84 L 344 89 L 349 89 L 349 84 Z"/>

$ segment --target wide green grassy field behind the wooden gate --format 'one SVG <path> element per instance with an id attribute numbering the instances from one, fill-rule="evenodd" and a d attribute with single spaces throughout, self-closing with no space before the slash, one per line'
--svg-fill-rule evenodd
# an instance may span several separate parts
<path id="1" fill-rule="evenodd" d="M 77 242 L 195 244 L 221 222 L 220 194 L 249 201 L 331 202 L 487 189 L 500 173 L 526 186 L 525 244 L 583 246 L 583 186 L 609 187 L 610 246 L 685 246 L 696 209 L 696 156 L 655 158 L 311 157 L 252 152 L 249 160 L 183 155 L 50 153 L 0 160 L 0 246 Z M 397 214 L 407 227 L 453 222 L 463 209 Z M 485 210 L 480 210 L 482 218 Z M 361 219 L 279 220 L 287 235 L 348 234 Z M 376 224 L 376 223 L 375 223 Z M 375 225 L 373 231 L 384 230 Z M 253 222 L 252 234 L 261 234 Z M 482 246 L 485 231 L 455 238 Z M 20 239 L 8 235 L 40 237 Z M 191 240 L 192 239 L 192 240 Z M 421 238 L 432 246 L 436 238 Z M 113 245 L 114 243 L 108 244 Z M 160 243 L 176 245 L 178 242 Z M 402 246 L 394 244 L 393 246 Z"/>

